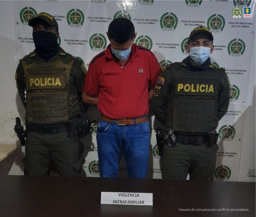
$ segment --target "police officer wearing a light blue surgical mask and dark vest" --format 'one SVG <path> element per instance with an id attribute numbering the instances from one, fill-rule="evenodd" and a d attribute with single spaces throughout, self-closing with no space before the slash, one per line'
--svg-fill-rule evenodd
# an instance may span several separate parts
<path id="1" fill-rule="evenodd" d="M 229 105 L 230 85 L 224 68 L 211 64 L 213 36 L 200 26 L 191 31 L 189 56 L 165 69 L 155 85 L 152 111 L 166 126 L 162 156 L 165 179 L 213 180 L 216 127 Z"/>

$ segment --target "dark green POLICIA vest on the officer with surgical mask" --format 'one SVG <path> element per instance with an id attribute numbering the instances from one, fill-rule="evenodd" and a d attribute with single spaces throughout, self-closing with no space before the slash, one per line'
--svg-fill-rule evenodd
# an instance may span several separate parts
<path id="1" fill-rule="evenodd" d="M 190 71 L 181 63 L 170 67 L 173 69 L 173 80 L 168 96 L 166 125 L 176 131 L 187 132 L 207 132 L 217 127 L 220 92 L 217 69 Z"/>

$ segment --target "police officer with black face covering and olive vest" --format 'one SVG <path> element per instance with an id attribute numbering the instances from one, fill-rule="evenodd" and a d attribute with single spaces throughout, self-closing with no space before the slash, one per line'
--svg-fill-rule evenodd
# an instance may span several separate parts
<path id="1" fill-rule="evenodd" d="M 39 13 L 28 25 L 33 27 L 35 50 L 20 60 L 16 71 L 26 109 L 24 174 L 47 176 L 53 165 L 60 176 L 79 176 L 85 162 L 78 135 L 78 123 L 86 120 L 81 101 L 85 66 L 58 45 L 52 15 Z"/>

